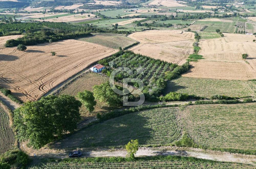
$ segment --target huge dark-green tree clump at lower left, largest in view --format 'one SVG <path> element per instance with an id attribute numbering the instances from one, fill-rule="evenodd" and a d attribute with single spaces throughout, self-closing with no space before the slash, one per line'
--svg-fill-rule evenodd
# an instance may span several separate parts
<path id="1" fill-rule="evenodd" d="M 14 126 L 20 141 L 39 149 L 77 128 L 81 102 L 70 95 L 42 97 L 14 110 Z"/>

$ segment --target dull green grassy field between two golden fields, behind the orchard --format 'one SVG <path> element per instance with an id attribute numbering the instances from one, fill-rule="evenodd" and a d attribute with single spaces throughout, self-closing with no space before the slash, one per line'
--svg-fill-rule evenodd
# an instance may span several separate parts
<path id="1" fill-rule="evenodd" d="M 77 40 L 87 41 L 109 48 L 118 49 L 119 47 L 126 47 L 136 43 L 136 40 L 126 37 L 124 34 L 114 33 L 97 33 L 91 37 L 79 38 Z"/>

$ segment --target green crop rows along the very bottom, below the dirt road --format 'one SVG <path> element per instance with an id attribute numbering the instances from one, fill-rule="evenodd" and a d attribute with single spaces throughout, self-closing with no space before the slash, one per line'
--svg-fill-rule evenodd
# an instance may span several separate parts
<path id="1" fill-rule="evenodd" d="M 154 157 L 152 157 L 153 159 Z M 112 158 L 113 159 L 113 158 Z M 122 158 L 121 158 L 122 160 Z M 78 161 L 78 162 L 77 162 Z M 65 159 L 59 163 L 57 162 L 48 162 L 35 166 L 29 167 L 29 169 L 185 169 L 185 168 L 193 168 L 193 169 L 253 169 L 255 166 L 249 164 L 241 164 L 241 163 L 228 163 L 228 162 L 218 162 L 218 161 L 210 161 L 210 160 L 196 160 L 195 158 L 187 158 L 187 157 L 177 157 L 177 156 L 167 156 L 163 159 L 156 160 L 136 160 L 131 162 L 100 162 L 97 158 L 88 158 L 88 161 L 92 162 L 83 162 L 83 159 L 77 160 L 74 162 L 65 162 Z"/>

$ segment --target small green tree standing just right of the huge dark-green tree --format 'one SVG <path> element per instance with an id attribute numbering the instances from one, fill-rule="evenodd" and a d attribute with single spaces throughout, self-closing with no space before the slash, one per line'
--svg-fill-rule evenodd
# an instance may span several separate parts
<path id="1" fill-rule="evenodd" d="M 82 104 L 86 107 L 86 109 L 89 112 L 92 112 L 94 110 L 94 106 L 96 105 L 96 101 L 94 100 L 93 93 L 84 90 L 83 92 L 78 92 L 77 93 L 77 98 L 82 102 Z"/>

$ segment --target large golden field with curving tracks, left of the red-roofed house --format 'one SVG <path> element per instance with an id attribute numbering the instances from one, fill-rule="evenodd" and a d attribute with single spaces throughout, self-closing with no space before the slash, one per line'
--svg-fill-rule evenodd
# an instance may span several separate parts
<path id="1" fill-rule="evenodd" d="M 51 51 L 56 55 L 52 56 Z M 79 40 L 0 50 L 0 84 L 22 101 L 42 95 L 94 62 L 117 51 Z"/>

